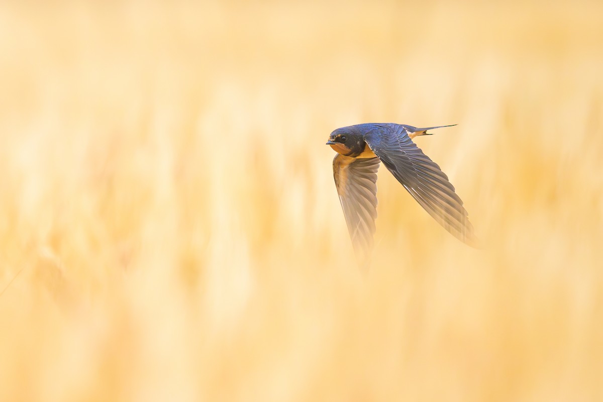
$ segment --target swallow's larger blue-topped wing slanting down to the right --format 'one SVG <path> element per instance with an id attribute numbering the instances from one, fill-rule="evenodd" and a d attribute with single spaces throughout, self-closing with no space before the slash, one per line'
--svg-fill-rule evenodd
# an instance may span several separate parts
<path id="1" fill-rule="evenodd" d="M 423 154 L 402 125 L 383 125 L 365 134 L 371 150 L 438 224 L 457 239 L 476 246 L 463 201 L 440 166 Z"/>

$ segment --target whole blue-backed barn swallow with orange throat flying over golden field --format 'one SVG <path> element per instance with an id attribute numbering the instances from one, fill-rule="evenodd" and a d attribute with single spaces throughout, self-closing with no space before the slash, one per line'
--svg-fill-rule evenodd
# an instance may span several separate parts
<path id="1" fill-rule="evenodd" d="M 463 201 L 440 166 L 412 142 L 427 130 L 405 124 L 367 123 L 338 128 L 327 145 L 335 149 L 333 176 L 352 244 L 366 256 L 373 247 L 377 218 L 377 169 L 383 162 L 402 186 L 438 224 L 457 239 L 476 246 Z"/>

